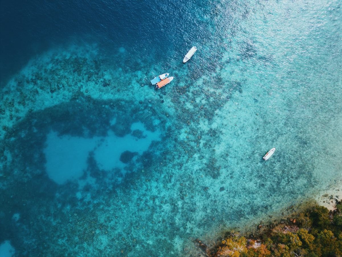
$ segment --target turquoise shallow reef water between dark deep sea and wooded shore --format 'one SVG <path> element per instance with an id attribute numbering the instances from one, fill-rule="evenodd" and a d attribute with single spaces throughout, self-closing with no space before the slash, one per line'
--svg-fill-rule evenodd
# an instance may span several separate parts
<path id="1" fill-rule="evenodd" d="M 196 237 L 214 242 L 341 185 L 341 3 L 190 5 L 193 30 L 176 11 L 147 19 L 179 28 L 168 44 L 144 30 L 142 49 L 134 37 L 70 39 L 6 83 L 1 244 L 29 256 L 201 255 Z M 155 91 L 163 72 L 175 79 Z"/>

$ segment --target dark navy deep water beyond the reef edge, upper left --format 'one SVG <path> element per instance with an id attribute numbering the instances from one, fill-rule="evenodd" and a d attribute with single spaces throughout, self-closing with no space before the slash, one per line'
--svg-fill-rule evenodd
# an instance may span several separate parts
<path id="1" fill-rule="evenodd" d="M 2 1 L 0 14 L 2 84 L 32 55 L 70 41 L 96 38 L 108 54 L 124 46 L 142 59 L 213 37 L 207 1 Z"/>

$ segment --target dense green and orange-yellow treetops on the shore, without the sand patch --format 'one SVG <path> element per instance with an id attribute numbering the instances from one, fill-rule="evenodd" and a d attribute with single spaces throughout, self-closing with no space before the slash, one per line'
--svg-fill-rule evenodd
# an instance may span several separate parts
<path id="1" fill-rule="evenodd" d="M 228 238 L 212 249 L 203 247 L 203 243 L 200 246 L 208 256 L 215 257 L 342 256 L 342 201 L 337 202 L 333 212 L 317 205 L 307 208 L 254 238 L 247 239 L 231 232 Z"/>

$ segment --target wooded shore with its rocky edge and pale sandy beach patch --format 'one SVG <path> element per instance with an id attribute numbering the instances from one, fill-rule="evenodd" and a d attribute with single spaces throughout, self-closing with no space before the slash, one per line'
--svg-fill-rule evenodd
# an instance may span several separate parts
<path id="1" fill-rule="evenodd" d="M 289 206 L 286 209 L 287 213 L 281 212 L 282 218 L 260 221 L 252 228 L 240 230 L 243 232 L 225 231 L 214 243 L 203 242 L 200 238 L 196 238 L 194 244 L 198 253 L 194 256 L 341 256 L 341 190 L 335 187 L 315 199 L 320 201 L 312 200 L 297 206 Z M 272 215 L 269 215 L 269 218 L 273 218 Z M 330 235 L 330 239 L 334 242 L 332 249 L 318 246 L 322 243 L 319 238 L 323 234 Z M 311 238 L 310 246 L 305 241 L 306 235 Z M 298 243 L 291 245 L 294 244 L 293 240 L 297 240 Z M 313 244 L 316 246 L 312 246 Z M 278 255 L 281 251 L 282 255 Z M 310 251 L 315 255 L 311 255 Z M 284 255 L 286 252 L 289 255 Z"/>

